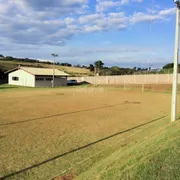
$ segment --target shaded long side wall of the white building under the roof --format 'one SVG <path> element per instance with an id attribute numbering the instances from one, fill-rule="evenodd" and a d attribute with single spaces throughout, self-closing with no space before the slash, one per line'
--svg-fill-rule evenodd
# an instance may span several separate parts
<path id="1" fill-rule="evenodd" d="M 67 78 L 66 77 L 55 77 L 54 85 L 55 86 L 66 86 Z M 51 87 L 52 86 L 52 76 L 36 76 L 35 77 L 35 86 L 36 87 Z"/>

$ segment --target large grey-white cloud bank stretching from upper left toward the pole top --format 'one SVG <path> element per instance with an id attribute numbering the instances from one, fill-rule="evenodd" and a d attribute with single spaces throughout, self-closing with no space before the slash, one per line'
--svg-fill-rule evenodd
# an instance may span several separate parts
<path id="1" fill-rule="evenodd" d="M 92 13 L 87 0 L 0 0 L 0 36 L 9 43 L 64 45 L 76 34 L 127 29 L 131 23 L 162 22 L 175 12 L 174 8 L 133 14 L 109 11 L 133 1 L 141 2 L 97 0 L 99 12 Z"/>

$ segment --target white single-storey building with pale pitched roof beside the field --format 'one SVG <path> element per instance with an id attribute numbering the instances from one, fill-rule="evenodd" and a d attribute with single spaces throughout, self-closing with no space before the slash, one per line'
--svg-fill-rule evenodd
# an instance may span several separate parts
<path id="1" fill-rule="evenodd" d="M 66 86 L 68 74 L 54 70 L 55 86 Z M 8 84 L 29 86 L 29 87 L 51 87 L 53 79 L 53 69 L 34 68 L 34 67 L 17 67 L 8 73 Z"/>

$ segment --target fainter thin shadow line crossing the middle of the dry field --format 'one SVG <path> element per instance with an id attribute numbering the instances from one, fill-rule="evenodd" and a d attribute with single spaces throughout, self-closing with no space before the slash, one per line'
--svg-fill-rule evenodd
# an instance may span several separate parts
<path id="1" fill-rule="evenodd" d="M 58 117 L 58 116 L 64 116 L 64 115 L 69 115 L 69 114 L 76 114 L 76 113 L 80 113 L 80 112 L 88 112 L 88 111 L 93 111 L 93 110 L 98 110 L 98 109 L 115 107 L 115 106 L 123 105 L 124 103 L 125 102 L 122 102 L 122 103 L 119 103 L 119 104 L 108 105 L 108 106 L 107 105 L 106 106 L 101 106 L 101 107 L 97 107 L 97 108 L 84 109 L 84 110 L 66 112 L 66 113 L 61 113 L 61 114 L 54 114 L 54 115 L 43 116 L 43 117 L 38 117 L 38 118 L 34 118 L 34 119 L 27 119 L 27 120 L 24 120 L 24 121 L 9 122 L 9 123 L 5 123 L 5 124 L 0 124 L 0 126 L 7 126 L 7 125 L 13 125 L 13 124 L 21 124 L 21 123 L 26 123 L 26 122 L 30 122 L 30 121 L 37 121 L 37 120 L 41 120 L 41 119 L 49 119 L 49 118 L 52 118 L 52 117 Z"/>

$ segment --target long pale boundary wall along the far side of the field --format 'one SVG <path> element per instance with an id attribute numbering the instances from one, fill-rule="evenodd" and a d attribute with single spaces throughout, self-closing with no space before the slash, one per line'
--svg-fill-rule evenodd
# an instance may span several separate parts
<path id="1" fill-rule="evenodd" d="M 122 76 L 89 76 L 68 77 L 78 82 L 86 81 L 91 84 L 172 84 L 172 74 L 122 75 Z M 180 74 L 178 78 L 180 83 Z"/>

